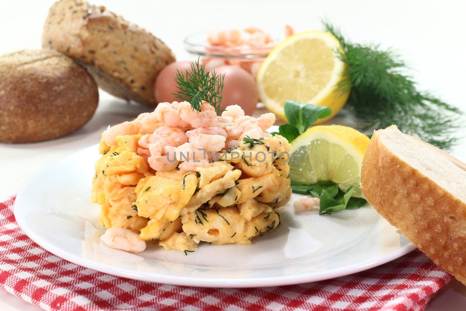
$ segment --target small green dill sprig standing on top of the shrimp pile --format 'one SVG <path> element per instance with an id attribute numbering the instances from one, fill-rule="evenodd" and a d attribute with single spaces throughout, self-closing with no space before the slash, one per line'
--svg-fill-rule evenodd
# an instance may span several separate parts
<path id="1" fill-rule="evenodd" d="M 191 72 L 185 73 L 177 69 L 175 81 L 178 91 L 172 93 L 177 98 L 191 104 L 192 110 L 201 111 L 202 101 L 206 101 L 215 108 L 217 115 L 224 110 L 220 109 L 225 74 L 217 75 L 214 70 L 207 71 L 204 64 L 197 61 L 191 63 Z"/>

